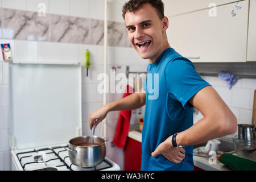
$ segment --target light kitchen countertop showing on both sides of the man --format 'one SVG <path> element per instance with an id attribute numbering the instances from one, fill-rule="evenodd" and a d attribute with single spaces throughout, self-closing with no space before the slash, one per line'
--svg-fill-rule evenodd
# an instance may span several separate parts
<path id="1" fill-rule="evenodd" d="M 141 142 L 142 133 L 138 129 L 131 128 L 128 133 L 128 137 Z M 235 154 L 234 154 L 235 155 Z M 224 164 L 220 163 L 216 159 L 216 164 L 210 164 L 209 159 L 201 157 L 201 156 L 193 156 L 194 165 L 205 171 L 231 171 L 230 168 L 226 167 Z"/>

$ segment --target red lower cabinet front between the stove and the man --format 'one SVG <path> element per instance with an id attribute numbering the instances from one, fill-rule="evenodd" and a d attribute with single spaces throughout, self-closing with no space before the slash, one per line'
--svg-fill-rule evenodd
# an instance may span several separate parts
<path id="1" fill-rule="evenodd" d="M 125 171 L 141 170 L 141 154 L 141 142 L 128 137 L 125 146 Z"/>

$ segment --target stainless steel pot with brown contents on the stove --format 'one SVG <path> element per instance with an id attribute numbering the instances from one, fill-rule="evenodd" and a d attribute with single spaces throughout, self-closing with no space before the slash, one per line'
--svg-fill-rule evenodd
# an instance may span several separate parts
<path id="1" fill-rule="evenodd" d="M 88 146 L 90 136 L 76 137 L 69 140 L 68 154 L 72 164 L 79 167 L 93 167 L 102 163 L 106 156 L 107 139 L 94 136 L 96 146 Z"/>

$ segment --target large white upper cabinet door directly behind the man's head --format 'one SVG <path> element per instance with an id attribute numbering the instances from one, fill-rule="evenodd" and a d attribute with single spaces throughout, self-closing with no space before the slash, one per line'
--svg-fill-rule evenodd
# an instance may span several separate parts
<path id="1" fill-rule="evenodd" d="M 170 46 L 193 62 L 245 62 L 249 1 L 239 3 L 216 7 L 216 16 L 204 9 L 168 17 Z"/>

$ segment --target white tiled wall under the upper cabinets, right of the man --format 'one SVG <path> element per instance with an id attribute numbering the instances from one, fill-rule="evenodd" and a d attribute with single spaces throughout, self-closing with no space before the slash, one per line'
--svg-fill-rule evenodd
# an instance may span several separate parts
<path id="1" fill-rule="evenodd" d="M 247 63 L 195 63 L 197 72 L 219 73 L 229 71 L 238 75 L 256 75 L 256 62 Z M 238 124 L 251 124 L 253 97 L 256 78 L 240 78 L 232 89 L 219 77 L 203 76 L 220 94 L 222 100 L 237 117 Z M 201 113 L 194 114 L 194 123 L 203 118 Z M 237 133 L 236 133 L 237 134 Z M 232 136 L 232 135 L 230 135 Z"/>

